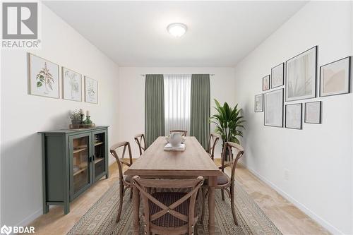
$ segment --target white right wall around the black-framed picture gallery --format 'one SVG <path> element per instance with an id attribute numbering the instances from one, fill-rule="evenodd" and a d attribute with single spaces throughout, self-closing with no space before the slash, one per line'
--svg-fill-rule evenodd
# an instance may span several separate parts
<path id="1" fill-rule="evenodd" d="M 297 101 L 323 101 L 323 123 L 301 131 L 263 126 L 253 103 L 270 68 L 306 49 L 318 45 L 318 66 L 352 55 L 351 5 L 309 2 L 234 71 L 247 121 L 243 163 L 334 234 L 353 234 L 352 94 Z"/>

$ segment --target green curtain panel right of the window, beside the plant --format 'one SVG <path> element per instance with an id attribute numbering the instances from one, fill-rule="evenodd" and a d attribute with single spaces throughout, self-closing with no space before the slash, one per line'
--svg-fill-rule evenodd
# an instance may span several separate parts
<path id="1" fill-rule="evenodd" d="M 210 135 L 210 74 L 191 76 L 190 135 L 206 148 Z"/>

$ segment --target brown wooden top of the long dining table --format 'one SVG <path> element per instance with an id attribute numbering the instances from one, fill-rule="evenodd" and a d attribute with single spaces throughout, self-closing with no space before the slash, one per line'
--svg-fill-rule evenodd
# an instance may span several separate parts
<path id="1" fill-rule="evenodd" d="M 143 176 L 220 176 L 222 173 L 195 137 L 186 137 L 184 152 L 164 151 L 167 142 L 160 136 L 124 172 Z"/>

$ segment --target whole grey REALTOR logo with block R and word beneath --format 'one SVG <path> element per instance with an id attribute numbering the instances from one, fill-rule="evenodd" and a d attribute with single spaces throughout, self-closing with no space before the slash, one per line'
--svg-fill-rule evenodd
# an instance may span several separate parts
<path id="1" fill-rule="evenodd" d="M 39 49 L 40 2 L 2 2 L 3 49 Z"/>

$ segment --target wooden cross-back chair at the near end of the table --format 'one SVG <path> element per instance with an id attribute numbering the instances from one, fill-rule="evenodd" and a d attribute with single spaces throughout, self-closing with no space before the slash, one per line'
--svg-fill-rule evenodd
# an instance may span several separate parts
<path id="1" fill-rule="evenodd" d="M 202 176 L 197 179 L 142 179 L 133 176 L 133 186 L 138 188 L 142 197 L 145 234 L 193 234 L 198 221 L 196 197 L 202 184 Z M 157 188 L 158 192 L 151 194 L 150 188 Z M 189 192 L 164 192 L 164 188 L 189 188 Z"/>

